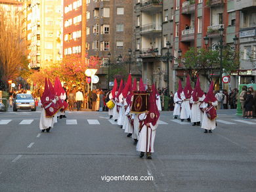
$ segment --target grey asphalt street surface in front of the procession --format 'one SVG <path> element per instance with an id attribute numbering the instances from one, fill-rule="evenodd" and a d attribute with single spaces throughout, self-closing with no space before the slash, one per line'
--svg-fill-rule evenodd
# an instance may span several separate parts
<path id="1" fill-rule="evenodd" d="M 0 191 L 256 191 L 256 119 L 217 112 L 217 128 L 162 111 L 152 160 L 106 112 L 67 111 L 49 133 L 40 111 L 0 113 Z M 103 181 L 104 176 L 153 181 Z"/>

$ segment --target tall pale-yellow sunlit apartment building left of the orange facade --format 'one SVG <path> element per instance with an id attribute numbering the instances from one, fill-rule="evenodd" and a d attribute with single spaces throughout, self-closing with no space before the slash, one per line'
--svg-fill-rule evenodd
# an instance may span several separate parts
<path id="1" fill-rule="evenodd" d="M 38 69 L 61 60 L 62 1 L 31 1 L 30 67 Z"/>

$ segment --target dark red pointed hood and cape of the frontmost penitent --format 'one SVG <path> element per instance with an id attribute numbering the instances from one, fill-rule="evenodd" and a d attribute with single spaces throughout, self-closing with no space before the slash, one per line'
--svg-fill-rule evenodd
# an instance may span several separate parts
<path id="1" fill-rule="evenodd" d="M 150 93 L 149 97 L 148 111 L 149 113 L 146 116 L 144 124 L 146 125 L 146 123 L 152 123 L 152 125 L 155 126 L 160 117 L 160 112 L 158 111 L 158 106 L 156 105 L 156 87 L 154 84 L 152 85 L 152 92 Z"/>

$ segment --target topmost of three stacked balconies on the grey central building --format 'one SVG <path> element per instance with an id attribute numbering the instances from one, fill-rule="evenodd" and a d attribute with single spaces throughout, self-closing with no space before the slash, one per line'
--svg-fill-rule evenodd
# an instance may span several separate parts
<path id="1" fill-rule="evenodd" d="M 161 12 L 162 7 L 163 2 L 161 0 L 142 0 L 142 3 L 140 4 L 140 10 L 150 12 L 151 14 Z"/>

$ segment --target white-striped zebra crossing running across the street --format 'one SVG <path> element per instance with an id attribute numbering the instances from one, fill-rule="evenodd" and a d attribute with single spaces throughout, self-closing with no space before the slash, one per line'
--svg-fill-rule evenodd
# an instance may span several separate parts
<path id="1" fill-rule="evenodd" d="M 12 121 L 15 121 L 15 123 L 18 123 L 18 125 L 32 125 L 34 121 L 39 121 L 39 119 L 1 119 L 0 120 L 0 126 L 1 125 L 9 125 Z M 228 119 L 228 121 L 223 120 L 223 119 L 217 119 L 217 123 L 223 124 L 223 125 L 256 125 L 256 119 L 251 119 L 251 120 L 244 120 L 244 119 Z M 117 121 L 114 121 L 114 119 L 66 119 L 64 120 L 64 123 L 66 125 L 81 125 L 83 123 L 84 125 L 106 125 L 106 123 L 110 123 L 111 125 L 117 125 Z M 179 119 L 171 119 L 169 122 L 166 121 L 159 121 L 158 125 L 191 125 L 190 122 L 187 121 L 181 121 Z"/>

